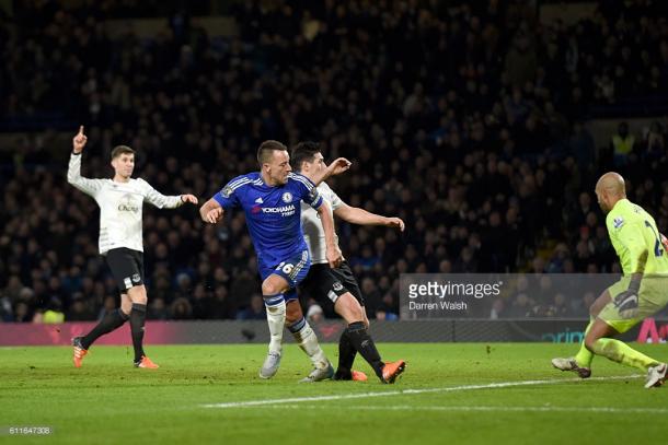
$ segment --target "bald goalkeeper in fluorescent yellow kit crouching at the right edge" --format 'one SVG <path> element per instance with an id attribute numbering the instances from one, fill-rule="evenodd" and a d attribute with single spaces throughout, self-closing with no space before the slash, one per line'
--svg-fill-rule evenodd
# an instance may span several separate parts
<path id="1" fill-rule="evenodd" d="M 596 184 L 610 241 L 620 257 L 624 277 L 608 288 L 591 305 L 591 321 L 578 353 L 571 359 L 553 359 L 554 367 L 591 375 L 594 355 L 641 368 L 647 373 L 645 388 L 666 380 L 666 363 L 654 360 L 612 337 L 626 332 L 668 304 L 668 254 L 656 222 L 643 208 L 626 199 L 624 179 L 610 172 Z"/>

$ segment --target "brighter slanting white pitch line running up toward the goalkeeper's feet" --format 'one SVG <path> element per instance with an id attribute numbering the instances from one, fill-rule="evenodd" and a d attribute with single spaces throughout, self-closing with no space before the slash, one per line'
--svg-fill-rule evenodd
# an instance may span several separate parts
<path id="1" fill-rule="evenodd" d="M 589 380 L 619 380 L 625 378 L 638 378 L 641 375 L 617 375 L 611 377 L 591 377 Z M 402 390 L 389 390 L 389 391 L 377 391 L 377 393 L 356 393 L 356 394 L 337 394 L 330 396 L 315 396 L 315 397 L 290 397 L 286 399 L 264 399 L 264 400 L 246 400 L 246 401 L 231 401 L 223 403 L 207 403 L 203 405 L 204 408 L 239 408 L 239 407 L 256 407 L 267 405 L 285 405 L 285 403 L 300 403 L 304 401 L 329 401 L 329 400 L 347 400 L 347 399 L 366 399 L 372 397 L 390 397 L 390 396 L 411 396 L 416 394 L 429 394 L 429 393 L 456 393 L 456 391 L 468 391 L 474 389 L 497 389 L 497 388 L 509 388 L 515 386 L 534 386 L 534 385 L 555 385 L 562 383 L 580 382 L 580 378 L 552 378 L 545 380 L 519 380 L 519 382 L 500 382 L 491 383 L 486 385 L 462 385 L 462 386 L 446 386 L 442 388 L 424 388 L 424 389 L 402 389 Z"/>

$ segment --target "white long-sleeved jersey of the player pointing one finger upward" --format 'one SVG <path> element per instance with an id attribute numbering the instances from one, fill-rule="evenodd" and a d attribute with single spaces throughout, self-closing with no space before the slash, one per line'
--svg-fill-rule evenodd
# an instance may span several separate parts
<path id="1" fill-rule="evenodd" d="M 141 211 L 143 201 L 162 209 L 183 204 L 181 196 L 164 196 L 143 179 L 116 183 L 81 176 L 81 154 L 72 154 L 67 181 L 95 199 L 100 206 L 100 254 L 127 247 L 143 251 Z"/>

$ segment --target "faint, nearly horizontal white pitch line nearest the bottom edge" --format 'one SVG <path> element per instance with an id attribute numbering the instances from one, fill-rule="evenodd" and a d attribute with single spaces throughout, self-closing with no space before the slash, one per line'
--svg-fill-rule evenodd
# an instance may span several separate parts
<path id="1" fill-rule="evenodd" d="M 239 408 L 252 408 L 249 406 Z M 299 409 L 299 410 L 311 410 L 311 409 L 332 409 L 327 405 L 269 405 L 265 408 L 276 409 Z M 613 407 L 492 407 L 492 406 L 423 406 L 416 407 L 413 405 L 379 405 L 379 406 L 359 406 L 359 405 L 347 405 L 346 410 L 359 410 L 359 411 L 487 411 L 487 412 L 594 412 L 594 413 L 606 413 L 606 414 L 667 414 L 668 408 L 613 408 Z"/>

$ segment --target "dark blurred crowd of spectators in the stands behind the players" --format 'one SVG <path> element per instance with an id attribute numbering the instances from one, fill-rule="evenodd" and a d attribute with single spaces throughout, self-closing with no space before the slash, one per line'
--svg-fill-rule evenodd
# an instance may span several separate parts
<path id="1" fill-rule="evenodd" d="M 124 143 L 136 176 L 200 199 L 256 169 L 265 139 L 321 141 L 354 162 L 330 183 L 347 203 L 406 222 L 338 226 L 371 318 L 396 318 L 404 272 L 619 271 L 594 183 L 617 168 L 668 230 L 666 122 L 596 147 L 584 120 L 668 91 L 665 2 L 606 2 L 572 26 L 541 25 L 525 1 L 475 3 L 246 1 L 239 37 L 178 13 L 154 38 L 111 39 L 113 1 L 26 2 L 0 25 L 0 121 L 59 116 L 72 136 L 84 124 L 84 176 L 108 177 Z M 70 147 L 54 140 L 0 153 L 3 321 L 116 304 L 95 202 L 67 184 Z M 242 213 L 205 226 L 192 208 L 146 208 L 143 230 L 149 319 L 264 319 Z M 584 316 L 587 303 L 522 294 L 491 316 Z"/>

